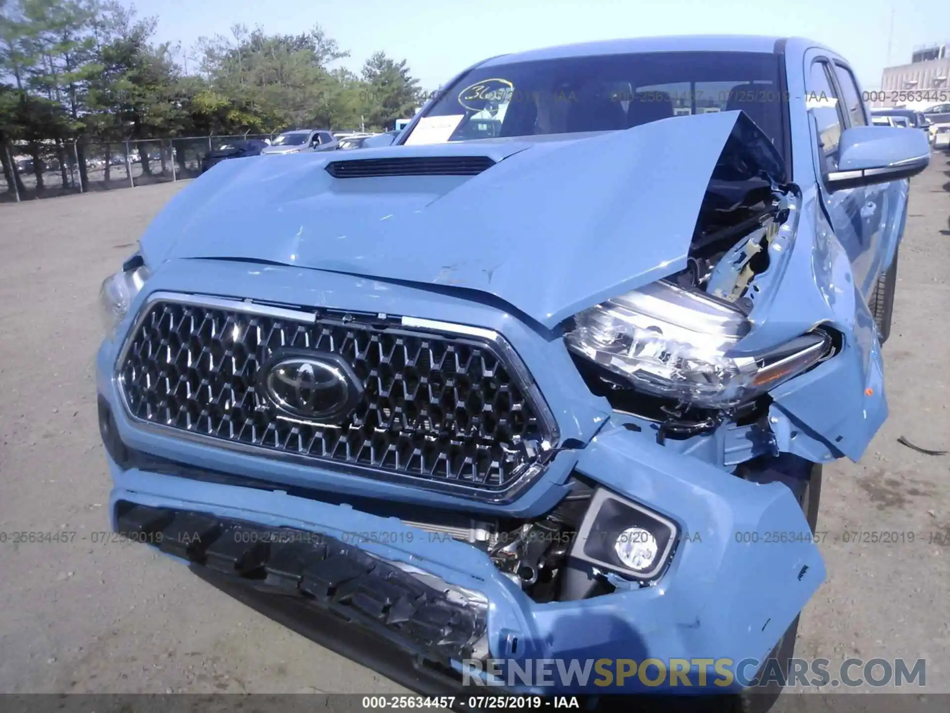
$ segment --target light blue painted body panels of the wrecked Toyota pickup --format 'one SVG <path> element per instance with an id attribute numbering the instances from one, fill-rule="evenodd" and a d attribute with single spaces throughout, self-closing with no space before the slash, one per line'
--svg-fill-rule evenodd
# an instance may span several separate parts
<path id="1" fill-rule="evenodd" d="M 764 659 L 821 585 L 825 568 L 807 539 L 743 541 L 743 533 L 804 533 L 809 526 L 785 485 L 758 485 L 733 473 L 756 456 L 779 453 L 813 463 L 857 459 L 880 428 L 887 414 L 883 361 L 867 300 L 901 240 L 908 183 L 826 191 L 805 105 L 807 77 L 818 57 L 844 60 L 805 39 L 618 40 L 505 55 L 485 65 L 703 49 L 785 54 L 791 183 L 784 189 L 792 209 L 769 248 L 768 269 L 756 278 L 751 329 L 735 351 L 757 355 L 818 325 L 841 335 L 838 354 L 770 392 L 768 419 L 727 421 L 660 444 L 655 422 L 612 411 L 606 398 L 591 393 L 562 338 L 566 318 L 686 265 L 712 168 L 736 123 L 746 121 L 739 112 L 547 140 L 230 161 L 181 191 L 142 237 L 152 275 L 117 337 L 100 348 L 97 389 L 128 447 L 264 479 L 274 490 L 123 470 L 110 459 L 112 516 L 123 501 L 333 536 L 348 530 L 422 535 L 395 518 L 281 488 L 527 519 L 551 511 L 572 474 L 580 474 L 666 516 L 686 534 L 654 586 L 615 576 L 612 593 L 538 604 L 485 552 L 464 542 L 419 536 L 365 549 L 484 593 L 495 658 Z M 325 170 L 332 161 L 396 156 L 487 156 L 497 164 L 471 177 L 387 180 L 340 180 Z M 242 210 L 234 211 L 236 204 Z M 570 446 L 517 499 L 499 505 L 219 449 L 142 426 L 124 409 L 114 375 L 136 313 L 158 291 L 494 330 L 523 360 L 561 442 Z M 508 650 L 513 638 L 523 642 L 515 654 Z M 634 685 L 628 680 L 622 690 Z"/>

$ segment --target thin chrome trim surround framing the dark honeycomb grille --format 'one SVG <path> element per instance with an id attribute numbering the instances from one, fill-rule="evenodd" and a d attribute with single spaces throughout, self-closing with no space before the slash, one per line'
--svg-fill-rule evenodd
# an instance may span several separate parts
<path id="1" fill-rule="evenodd" d="M 454 494 L 462 497 L 479 500 L 487 503 L 504 504 L 514 500 L 515 496 L 523 491 L 526 485 L 535 481 L 538 475 L 546 470 L 546 465 L 542 465 L 535 459 L 533 462 L 525 464 L 523 473 L 517 476 L 508 485 L 504 491 L 492 491 L 484 488 L 473 488 L 457 481 L 439 481 L 429 480 L 422 475 L 410 475 L 408 473 L 377 470 L 366 466 L 352 463 L 340 462 L 330 458 L 321 458 L 313 455 L 302 455 L 289 451 L 281 451 L 276 448 L 265 446 L 249 445 L 238 441 L 232 441 L 227 438 L 221 438 L 211 434 L 199 434 L 194 431 L 185 431 L 174 426 L 148 421 L 132 414 L 128 404 L 123 384 L 122 366 L 125 357 L 128 356 L 128 350 L 132 346 L 135 334 L 142 326 L 142 322 L 148 316 L 151 306 L 158 301 L 176 302 L 188 304 L 197 307 L 218 307 L 224 310 L 242 312 L 245 314 L 261 315 L 267 317 L 278 317 L 292 321 L 301 321 L 307 324 L 315 324 L 317 321 L 314 312 L 304 312 L 285 307 L 277 307 L 269 304 L 261 304 L 249 299 L 221 298 L 211 295 L 198 295 L 177 292 L 153 292 L 143 302 L 136 315 L 135 321 L 123 337 L 123 347 L 119 352 L 113 365 L 112 381 L 119 398 L 122 401 L 123 410 L 128 417 L 129 422 L 138 430 L 147 433 L 148 431 L 164 432 L 168 435 L 196 442 L 202 445 L 212 444 L 218 448 L 236 451 L 238 453 L 248 453 L 251 455 L 264 456 L 283 462 L 295 463 L 300 465 L 314 466 L 315 463 L 320 467 L 331 472 L 345 472 L 348 474 L 360 475 L 366 473 L 368 477 L 375 479 L 388 480 L 402 485 L 408 485 L 413 488 L 428 491 L 440 491 L 446 494 Z M 345 310 L 333 309 L 331 312 L 343 313 Z M 362 313 L 361 313 L 362 314 Z M 527 367 L 521 357 L 508 341 L 498 332 L 491 329 L 480 327 L 471 327 L 466 324 L 456 324 L 454 322 L 442 322 L 422 318 L 401 318 L 403 326 L 411 326 L 414 329 L 430 329 L 433 331 L 449 332 L 461 336 L 481 337 L 490 340 L 492 346 L 499 350 L 506 366 L 512 371 L 512 377 L 517 381 L 519 387 L 524 391 L 524 395 L 531 400 L 538 411 L 538 417 L 542 421 L 542 434 L 548 436 L 550 440 L 542 442 L 542 452 L 557 447 L 561 441 L 561 433 L 558 428 L 558 422 L 554 418 L 553 412 L 547 405 L 547 401 L 541 394 L 541 390 L 530 376 Z M 418 333 L 416 333 L 418 334 Z"/>

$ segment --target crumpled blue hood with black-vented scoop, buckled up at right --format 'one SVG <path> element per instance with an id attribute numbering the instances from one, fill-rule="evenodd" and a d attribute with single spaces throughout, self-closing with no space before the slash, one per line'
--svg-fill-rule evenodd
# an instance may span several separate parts
<path id="1" fill-rule="evenodd" d="M 552 327 L 682 269 L 712 170 L 736 132 L 773 179 L 768 139 L 738 111 L 564 141 L 387 146 L 238 159 L 165 207 L 149 264 L 262 260 L 489 293 Z M 764 144 L 763 144 L 764 142 Z M 732 142 L 731 145 L 736 145 Z M 488 156 L 475 176 L 333 178 L 331 162 Z"/>

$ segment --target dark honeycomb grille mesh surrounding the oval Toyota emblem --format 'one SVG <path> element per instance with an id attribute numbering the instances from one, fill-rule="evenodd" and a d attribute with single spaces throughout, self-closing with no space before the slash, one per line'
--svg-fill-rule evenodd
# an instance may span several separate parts
<path id="1" fill-rule="evenodd" d="M 140 424 L 497 499 L 540 472 L 557 430 L 506 342 L 470 332 L 165 293 L 142 308 L 117 379 Z M 257 374 L 283 348 L 343 357 L 363 387 L 352 413 L 278 412 Z"/>

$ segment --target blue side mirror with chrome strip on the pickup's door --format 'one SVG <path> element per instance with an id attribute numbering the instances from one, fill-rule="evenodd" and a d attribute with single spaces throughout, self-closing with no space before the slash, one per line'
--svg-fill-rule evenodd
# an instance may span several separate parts
<path id="1" fill-rule="evenodd" d="M 851 126 L 838 145 L 838 170 L 829 172 L 829 190 L 889 183 L 916 176 L 930 164 L 930 145 L 922 131 L 900 126 Z"/>

